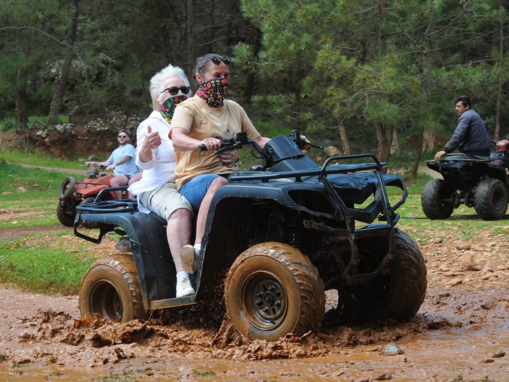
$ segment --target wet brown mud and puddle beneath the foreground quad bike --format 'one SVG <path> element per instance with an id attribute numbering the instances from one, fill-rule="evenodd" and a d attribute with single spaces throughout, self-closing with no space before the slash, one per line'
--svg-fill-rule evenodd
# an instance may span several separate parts
<path id="1" fill-rule="evenodd" d="M 509 380 L 504 290 L 428 293 L 408 323 L 326 321 L 315 336 L 224 346 L 182 323 L 76 328 L 76 305 L 0 289 L 0 381 Z M 384 355 L 387 344 L 402 353 Z"/>

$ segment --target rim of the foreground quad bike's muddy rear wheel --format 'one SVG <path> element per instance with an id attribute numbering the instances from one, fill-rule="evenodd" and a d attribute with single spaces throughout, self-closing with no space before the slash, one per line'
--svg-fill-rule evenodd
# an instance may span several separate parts
<path id="1" fill-rule="evenodd" d="M 111 322 L 122 320 L 122 301 L 115 286 L 109 281 L 99 281 L 90 295 L 90 313 Z"/>

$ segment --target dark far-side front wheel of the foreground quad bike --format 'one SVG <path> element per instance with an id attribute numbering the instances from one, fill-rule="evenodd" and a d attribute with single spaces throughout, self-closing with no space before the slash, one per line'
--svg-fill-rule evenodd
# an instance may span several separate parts
<path id="1" fill-rule="evenodd" d="M 396 229 L 394 240 L 395 257 L 387 264 L 387 275 L 379 275 L 364 284 L 340 287 L 342 318 L 350 321 L 407 320 L 417 313 L 428 285 L 426 265 L 410 236 Z M 385 255 L 377 254 L 376 247 L 375 243 L 370 251 L 359 253 L 359 274 L 375 270 Z"/>

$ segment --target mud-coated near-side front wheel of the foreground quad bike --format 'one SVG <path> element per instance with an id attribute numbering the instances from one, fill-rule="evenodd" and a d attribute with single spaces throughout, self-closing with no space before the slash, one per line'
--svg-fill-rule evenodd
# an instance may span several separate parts
<path id="1" fill-rule="evenodd" d="M 254 245 L 235 260 L 224 299 L 231 322 L 249 340 L 317 330 L 325 313 L 324 284 L 315 265 L 277 242 Z"/>

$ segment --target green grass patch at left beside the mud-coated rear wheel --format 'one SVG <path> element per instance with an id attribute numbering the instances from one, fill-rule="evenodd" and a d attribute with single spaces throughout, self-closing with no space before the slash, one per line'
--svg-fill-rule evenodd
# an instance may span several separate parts
<path id="1" fill-rule="evenodd" d="M 13 282 L 37 293 L 77 294 L 83 275 L 97 258 L 95 246 L 68 232 L 0 241 L 0 283 Z"/>

